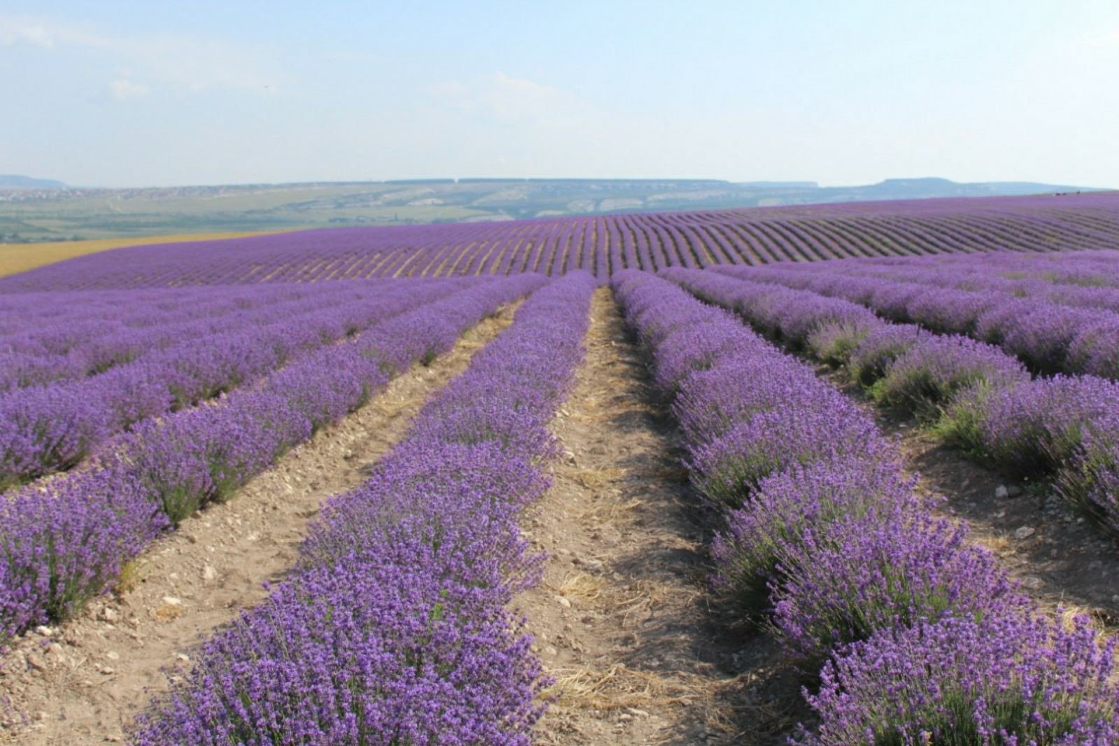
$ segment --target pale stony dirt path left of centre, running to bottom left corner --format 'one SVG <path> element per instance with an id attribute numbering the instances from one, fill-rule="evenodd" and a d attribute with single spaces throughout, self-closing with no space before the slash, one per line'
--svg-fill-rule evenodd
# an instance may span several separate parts
<path id="1" fill-rule="evenodd" d="M 123 740 L 126 724 L 166 689 L 169 665 L 265 596 L 297 558 L 330 495 L 358 486 L 404 435 L 424 400 L 466 370 L 513 320 L 506 307 L 430 367 L 416 366 L 336 426 L 284 455 L 234 500 L 184 521 L 135 563 L 126 589 L 77 619 L 17 641 L 0 668 L 6 715 L 29 719 L 0 740 L 75 746 Z"/>

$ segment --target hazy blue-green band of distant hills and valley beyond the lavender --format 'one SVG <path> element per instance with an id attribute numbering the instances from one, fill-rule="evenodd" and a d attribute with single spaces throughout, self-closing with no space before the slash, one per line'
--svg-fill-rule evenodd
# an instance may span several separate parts
<path id="1" fill-rule="evenodd" d="M 0 177 L 0 243 L 1089 192 L 1021 181 L 430 178 L 133 189 Z"/>

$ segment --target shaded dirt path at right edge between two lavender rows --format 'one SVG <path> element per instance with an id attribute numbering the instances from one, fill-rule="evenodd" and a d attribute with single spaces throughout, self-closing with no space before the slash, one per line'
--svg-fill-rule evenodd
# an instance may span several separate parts
<path id="1" fill-rule="evenodd" d="M 1076 515 L 1045 485 L 1026 485 L 967 459 L 918 426 L 912 417 L 874 405 L 846 377 L 818 369 L 862 404 L 878 428 L 896 437 L 905 466 L 920 474 L 919 489 L 946 498 L 966 519 L 975 541 L 1042 606 L 1085 612 L 1119 628 L 1119 547 L 1102 529 Z M 1115 630 L 1112 630 L 1115 632 Z"/>

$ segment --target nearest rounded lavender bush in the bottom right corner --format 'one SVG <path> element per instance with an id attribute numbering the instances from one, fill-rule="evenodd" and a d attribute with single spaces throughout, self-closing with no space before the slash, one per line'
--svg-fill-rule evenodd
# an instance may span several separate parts
<path id="1" fill-rule="evenodd" d="M 1104 746 L 1119 739 L 1115 645 L 1083 617 L 947 617 L 856 643 L 806 697 L 815 746 Z"/>

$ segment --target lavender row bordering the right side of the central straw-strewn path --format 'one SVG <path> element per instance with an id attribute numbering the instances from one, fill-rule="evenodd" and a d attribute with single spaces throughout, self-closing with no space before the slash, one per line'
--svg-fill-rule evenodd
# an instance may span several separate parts
<path id="1" fill-rule="evenodd" d="M 934 520 L 895 448 L 814 371 L 666 280 L 614 280 L 699 492 L 722 506 L 716 587 L 768 616 L 818 690 L 799 740 L 1108 744 L 1113 643 L 1031 607 Z"/>

